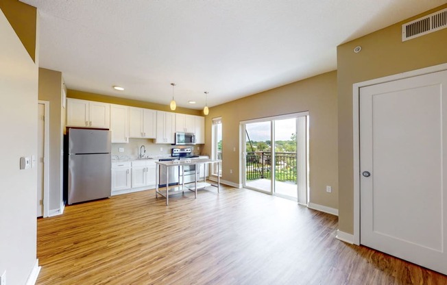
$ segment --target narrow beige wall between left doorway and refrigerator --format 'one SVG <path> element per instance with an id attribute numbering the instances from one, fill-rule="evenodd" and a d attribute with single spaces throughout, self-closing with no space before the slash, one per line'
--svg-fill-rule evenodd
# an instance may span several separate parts
<path id="1" fill-rule="evenodd" d="M 62 202 L 62 73 L 39 69 L 39 100 L 49 101 L 49 211 Z"/>

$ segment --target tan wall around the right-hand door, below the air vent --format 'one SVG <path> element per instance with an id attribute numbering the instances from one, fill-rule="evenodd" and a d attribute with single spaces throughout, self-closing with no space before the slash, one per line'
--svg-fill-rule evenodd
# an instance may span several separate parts
<path id="1" fill-rule="evenodd" d="M 424 14 L 446 8 L 443 5 Z M 337 48 L 339 121 L 339 230 L 352 234 L 353 154 L 352 84 L 447 62 L 447 29 L 402 42 L 401 25 L 406 21 L 363 36 Z M 361 46 L 360 53 L 354 47 Z"/>

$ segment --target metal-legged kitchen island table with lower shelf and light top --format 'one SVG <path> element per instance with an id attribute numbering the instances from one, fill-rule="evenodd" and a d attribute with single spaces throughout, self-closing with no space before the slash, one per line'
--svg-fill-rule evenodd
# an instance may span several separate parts
<path id="1" fill-rule="evenodd" d="M 169 161 L 158 161 L 155 162 L 156 165 L 156 173 L 155 173 L 155 178 L 156 178 L 156 188 L 155 188 L 155 197 L 158 198 L 158 195 L 161 195 L 162 197 L 166 198 L 166 205 L 168 205 L 169 203 L 169 192 L 173 193 L 173 192 L 178 192 L 178 191 L 184 191 L 184 190 L 190 190 L 193 191 L 195 194 L 195 198 L 197 199 L 197 189 L 200 188 L 205 188 L 207 186 L 214 186 L 217 187 L 217 192 L 219 192 L 219 184 L 220 184 L 220 177 L 219 175 L 217 175 L 217 185 L 215 184 L 208 184 L 206 183 L 206 175 L 204 175 L 204 180 L 203 182 L 199 183 L 197 182 L 197 172 L 195 173 L 195 179 L 193 183 L 190 184 L 194 184 L 194 187 L 189 186 L 188 184 L 182 184 L 179 185 L 177 187 L 171 187 L 169 188 L 169 184 L 166 184 L 166 192 L 163 194 L 161 193 L 159 187 L 158 187 L 158 180 L 159 180 L 159 173 L 160 173 L 160 167 L 183 167 L 186 165 L 195 165 L 195 169 L 198 169 L 197 166 L 199 166 L 200 164 L 204 164 L 204 169 L 205 169 L 205 173 L 206 173 L 206 164 L 213 164 L 213 163 L 217 163 L 217 173 L 219 173 L 219 162 L 221 162 L 221 160 L 212 160 L 209 158 L 198 158 L 198 159 L 187 159 L 187 160 L 169 160 Z M 169 181 L 169 171 L 165 171 L 166 172 L 166 181 Z M 183 171 L 182 171 L 183 172 Z M 182 173 L 179 171 L 179 173 Z"/>

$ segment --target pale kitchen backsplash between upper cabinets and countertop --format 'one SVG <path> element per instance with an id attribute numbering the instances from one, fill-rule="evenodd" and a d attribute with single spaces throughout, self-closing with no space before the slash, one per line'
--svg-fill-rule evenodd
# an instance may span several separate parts
<path id="1" fill-rule="evenodd" d="M 200 155 L 203 145 L 160 145 L 155 144 L 150 138 L 130 138 L 129 143 L 112 143 L 112 156 L 127 156 L 128 158 L 137 158 L 140 155 L 140 147 L 144 145 L 147 157 L 158 158 L 160 156 L 171 156 L 173 147 L 190 147 L 195 155 Z M 123 148 L 123 152 L 119 152 L 119 148 Z M 200 150 L 199 150 L 200 149 Z"/>

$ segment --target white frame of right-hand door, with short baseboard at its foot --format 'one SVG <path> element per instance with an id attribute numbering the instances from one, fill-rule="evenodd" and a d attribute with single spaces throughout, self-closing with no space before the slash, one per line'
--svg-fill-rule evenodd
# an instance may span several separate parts
<path id="1" fill-rule="evenodd" d="M 447 63 L 435 66 L 429 66 L 424 69 L 416 69 L 414 71 L 407 71 L 395 75 L 389 75 L 376 79 L 367 80 L 365 82 L 358 82 L 352 84 L 352 151 L 353 151 L 353 190 L 354 190 L 354 235 L 339 232 L 341 239 L 346 240 L 354 245 L 360 245 L 360 88 L 372 86 L 376 84 L 383 84 L 386 82 L 393 82 L 409 77 L 417 77 L 428 73 L 436 73 L 439 71 L 446 71 Z M 338 235 L 337 235 L 338 236 Z"/>

